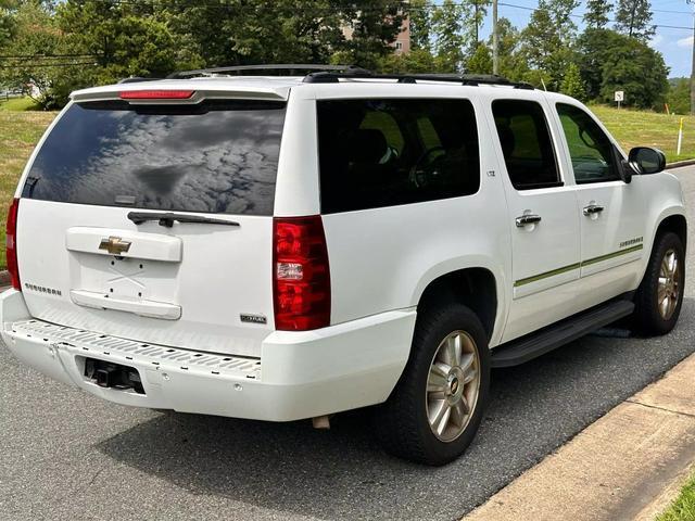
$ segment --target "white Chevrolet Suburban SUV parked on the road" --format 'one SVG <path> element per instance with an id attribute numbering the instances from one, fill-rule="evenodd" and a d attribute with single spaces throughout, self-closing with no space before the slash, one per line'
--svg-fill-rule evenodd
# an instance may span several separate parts
<path id="1" fill-rule="evenodd" d="M 20 359 L 156 409 L 326 427 L 379 404 L 387 449 L 440 465 L 473 437 L 491 368 L 623 317 L 675 325 L 679 181 L 576 100 L 236 73 L 73 94 L 8 220 Z"/>

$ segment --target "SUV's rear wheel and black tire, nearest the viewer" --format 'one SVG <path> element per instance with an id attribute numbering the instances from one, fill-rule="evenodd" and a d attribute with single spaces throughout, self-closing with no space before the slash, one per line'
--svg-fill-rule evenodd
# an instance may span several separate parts
<path id="1" fill-rule="evenodd" d="M 376 431 L 394 456 L 439 466 L 460 456 L 489 401 L 490 351 L 480 319 L 462 304 L 424 310 L 410 358 Z"/>

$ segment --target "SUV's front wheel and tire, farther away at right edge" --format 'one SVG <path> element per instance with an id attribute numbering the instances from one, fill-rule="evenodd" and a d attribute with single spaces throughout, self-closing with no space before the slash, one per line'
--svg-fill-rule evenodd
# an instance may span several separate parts
<path id="1" fill-rule="evenodd" d="M 673 232 L 657 236 L 647 269 L 634 298 L 633 329 L 645 335 L 670 332 L 681 313 L 685 250 Z"/>

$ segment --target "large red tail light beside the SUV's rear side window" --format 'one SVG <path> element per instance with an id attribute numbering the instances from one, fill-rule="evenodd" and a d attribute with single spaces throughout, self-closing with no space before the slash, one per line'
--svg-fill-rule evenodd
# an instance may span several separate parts
<path id="1" fill-rule="evenodd" d="M 307 331 L 330 323 L 330 270 L 319 215 L 273 220 L 275 327 Z"/>

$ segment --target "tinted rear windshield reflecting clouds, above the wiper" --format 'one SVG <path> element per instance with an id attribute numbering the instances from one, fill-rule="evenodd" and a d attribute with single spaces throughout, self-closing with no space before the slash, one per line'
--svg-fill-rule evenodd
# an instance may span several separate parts
<path id="1" fill-rule="evenodd" d="M 285 103 L 74 104 L 23 196 L 149 209 L 273 215 Z"/>

